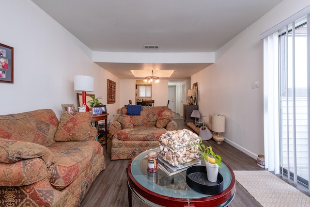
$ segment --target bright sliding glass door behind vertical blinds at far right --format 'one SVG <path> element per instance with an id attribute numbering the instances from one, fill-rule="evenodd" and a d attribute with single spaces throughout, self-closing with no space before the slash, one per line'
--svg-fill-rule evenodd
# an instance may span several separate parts
<path id="1" fill-rule="evenodd" d="M 295 185 L 298 182 L 306 186 L 309 186 L 309 42 L 306 17 L 279 32 L 280 171 L 290 175 Z"/>

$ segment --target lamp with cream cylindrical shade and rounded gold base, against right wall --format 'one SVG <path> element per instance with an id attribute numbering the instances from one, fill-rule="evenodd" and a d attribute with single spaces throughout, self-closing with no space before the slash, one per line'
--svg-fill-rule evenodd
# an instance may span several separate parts
<path id="1" fill-rule="evenodd" d="M 225 116 L 221 114 L 212 114 L 211 120 L 211 130 L 217 133 L 213 135 L 213 139 L 217 143 L 222 143 L 225 138 L 220 135 L 220 133 L 225 132 Z"/>

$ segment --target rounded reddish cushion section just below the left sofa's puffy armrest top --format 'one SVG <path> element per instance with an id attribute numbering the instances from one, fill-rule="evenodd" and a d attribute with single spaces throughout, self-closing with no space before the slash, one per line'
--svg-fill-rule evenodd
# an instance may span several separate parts
<path id="1" fill-rule="evenodd" d="M 22 159 L 14 163 L 0 162 L 0 186 L 24 186 L 47 177 L 43 159 Z M 31 170 L 29 170 L 31 169 Z"/>

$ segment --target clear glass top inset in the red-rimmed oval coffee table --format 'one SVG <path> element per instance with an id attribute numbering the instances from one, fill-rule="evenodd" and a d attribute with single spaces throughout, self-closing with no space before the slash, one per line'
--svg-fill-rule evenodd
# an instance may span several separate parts
<path id="1" fill-rule="evenodd" d="M 157 194 L 173 198 L 197 199 L 212 195 L 203 194 L 192 190 L 186 184 L 186 170 L 176 175 L 169 176 L 158 168 L 156 173 L 147 171 L 147 154 L 158 149 L 148 150 L 140 153 L 133 159 L 130 170 L 135 180 L 144 188 Z M 205 165 L 202 161 L 202 165 Z M 223 176 L 223 191 L 225 191 L 232 181 L 232 174 L 225 163 L 219 168 L 219 173 Z"/>

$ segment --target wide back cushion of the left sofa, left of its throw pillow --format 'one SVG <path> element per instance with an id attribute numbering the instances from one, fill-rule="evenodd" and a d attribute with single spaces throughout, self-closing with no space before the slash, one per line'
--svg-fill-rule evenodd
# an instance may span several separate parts
<path id="1" fill-rule="evenodd" d="M 0 116 L 0 138 L 49 146 L 59 121 L 53 110 L 42 109 Z"/>

